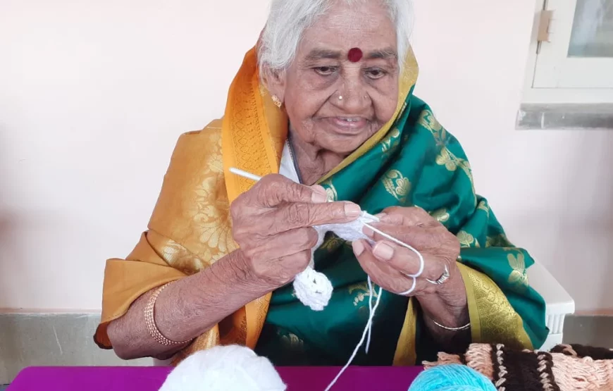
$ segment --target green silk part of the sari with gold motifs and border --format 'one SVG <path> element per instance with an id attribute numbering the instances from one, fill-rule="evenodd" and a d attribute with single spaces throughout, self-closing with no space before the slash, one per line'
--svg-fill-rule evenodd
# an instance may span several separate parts
<path id="1" fill-rule="evenodd" d="M 459 142 L 412 90 L 388 134 L 321 184 L 333 199 L 354 201 L 369 213 L 388 206 L 419 206 L 431 213 L 457 235 L 462 247 L 458 263 L 469 299 L 472 341 L 526 348 L 543 344 L 545 302 L 526 275 L 533 259 L 507 240 L 488 201 L 475 192 Z M 256 352 L 276 365 L 343 365 L 366 325 L 366 273 L 349 243 L 329 232 L 315 262 L 334 286 L 332 299 L 323 311 L 311 311 L 295 297 L 292 285 L 273 292 Z M 411 302 L 416 316 L 409 325 L 414 327 L 413 359 L 419 363 L 433 359 L 442 347 L 423 325 L 419 303 Z M 361 349 L 354 364 L 395 362 L 411 304 L 407 297 L 383 291 L 371 349 L 369 354 Z"/>

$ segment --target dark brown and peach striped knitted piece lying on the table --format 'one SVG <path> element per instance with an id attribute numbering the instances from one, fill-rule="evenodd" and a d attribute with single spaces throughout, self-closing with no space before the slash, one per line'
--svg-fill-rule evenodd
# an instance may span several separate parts
<path id="1" fill-rule="evenodd" d="M 557 345 L 551 352 L 472 344 L 465 354 L 439 353 L 428 368 L 464 364 L 490 378 L 499 391 L 613 390 L 613 350 Z"/>

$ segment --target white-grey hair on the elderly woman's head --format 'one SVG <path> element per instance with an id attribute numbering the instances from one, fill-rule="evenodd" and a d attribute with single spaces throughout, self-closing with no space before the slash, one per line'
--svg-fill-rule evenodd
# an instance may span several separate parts
<path id="1" fill-rule="evenodd" d="M 266 27 L 258 47 L 258 66 L 271 70 L 287 69 L 294 61 L 304 30 L 324 15 L 335 0 L 272 0 Z M 336 0 L 354 4 L 357 1 L 380 1 L 396 26 L 400 68 L 409 51 L 413 8 L 411 0 Z"/>

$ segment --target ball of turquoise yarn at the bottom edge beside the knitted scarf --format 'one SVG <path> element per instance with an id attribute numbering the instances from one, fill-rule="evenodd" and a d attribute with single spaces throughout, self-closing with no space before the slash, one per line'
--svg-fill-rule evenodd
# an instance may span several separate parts
<path id="1" fill-rule="evenodd" d="M 420 373 L 409 391 L 496 391 L 496 387 L 468 366 L 447 364 Z"/>

